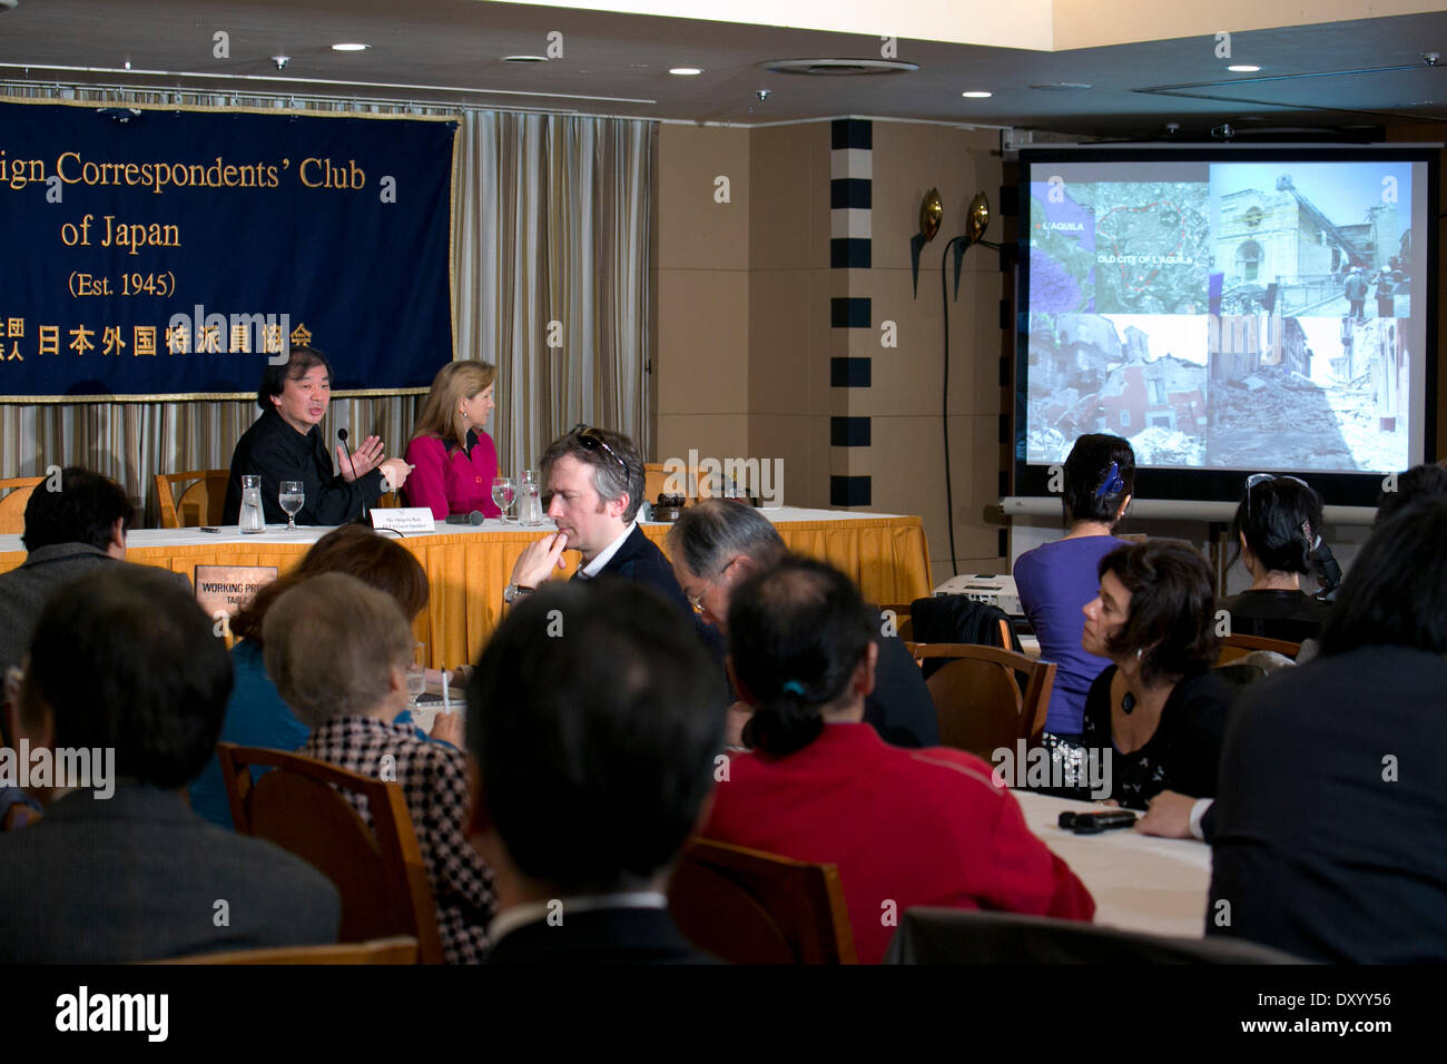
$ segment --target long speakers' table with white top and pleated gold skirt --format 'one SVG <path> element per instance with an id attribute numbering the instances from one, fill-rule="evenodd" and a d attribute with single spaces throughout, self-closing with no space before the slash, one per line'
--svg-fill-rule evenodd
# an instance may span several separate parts
<path id="1" fill-rule="evenodd" d="M 858 514 L 793 507 L 760 511 L 778 528 L 790 550 L 829 562 L 852 578 L 871 602 L 910 602 L 929 595 L 929 547 L 919 517 Z M 667 523 L 641 524 L 644 534 L 667 553 Z M 551 521 L 531 528 L 517 523 L 480 525 L 437 523 L 433 534 L 408 534 L 398 541 L 411 552 L 431 586 L 427 609 L 414 631 L 427 644 L 434 669 L 476 659 L 502 612 L 502 589 L 528 543 L 553 531 Z M 266 525 L 246 536 L 234 527 L 217 533 L 198 528 L 137 528 L 127 537 L 126 557 L 195 576 L 198 565 L 275 566 L 285 573 L 328 530 Z M 392 533 L 383 533 L 391 536 Z M 566 570 L 577 567 L 567 552 Z M 19 536 L 0 536 L 0 573 L 25 562 Z"/>

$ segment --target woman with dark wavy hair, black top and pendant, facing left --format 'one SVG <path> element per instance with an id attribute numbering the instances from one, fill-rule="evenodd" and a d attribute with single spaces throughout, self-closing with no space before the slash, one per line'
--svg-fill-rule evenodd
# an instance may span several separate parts
<path id="1" fill-rule="evenodd" d="M 1215 795 L 1234 691 L 1207 672 L 1220 650 L 1211 607 L 1211 569 L 1187 543 L 1133 543 L 1100 560 L 1081 640 L 1111 664 L 1085 696 L 1084 740 L 1110 754 L 1123 806 L 1145 809 L 1162 790 Z"/>

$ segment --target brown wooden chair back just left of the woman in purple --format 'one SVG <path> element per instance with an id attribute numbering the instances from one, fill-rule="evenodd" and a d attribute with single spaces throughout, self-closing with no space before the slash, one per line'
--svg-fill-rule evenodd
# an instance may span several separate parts
<path id="1" fill-rule="evenodd" d="M 987 761 L 1017 740 L 1033 746 L 1045 731 L 1055 663 L 977 643 L 906 643 L 923 666 L 948 659 L 925 680 L 939 718 L 939 744 Z M 1024 677 L 1022 691 L 1020 677 Z"/>

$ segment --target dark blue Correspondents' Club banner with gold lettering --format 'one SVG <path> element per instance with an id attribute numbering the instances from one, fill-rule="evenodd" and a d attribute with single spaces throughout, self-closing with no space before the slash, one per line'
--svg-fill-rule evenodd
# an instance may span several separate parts
<path id="1" fill-rule="evenodd" d="M 0 401 L 334 391 L 451 359 L 454 122 L 0 104 Z"/>

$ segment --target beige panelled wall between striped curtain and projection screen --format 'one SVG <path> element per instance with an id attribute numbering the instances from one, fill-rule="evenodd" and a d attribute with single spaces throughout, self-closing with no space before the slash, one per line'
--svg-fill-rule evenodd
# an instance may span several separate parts
<path id="1" fill-rule="evenodd" d="M 997 135 L 904 122 L 873 124 L 873 268 L 829 266 L 831 124 L 752 130 L 664 124 L 658 136 L 658 360 L 655 460 L 781 459 L 789 505 L 829 504 L 829 476 L 868 475 L 883 512 L 919 514 L 933 579 L 945 579 L 939 261 L 984 190 L 998 210 Z M 713 178 L 731 177 L 731 204 Z M 941 236 L 910 291 L 910 236 L 929 187 L 945 203 Z M 1000 239 L 991 224 L 988 239 Z M 951 473 L 961 572 L 996 572 L 1003 294 L 998 258 L 974 249 L 949 304 Z M 870 297 L 873 327 L 832 329 L 831 297 Z M 881 346 L 893 321 L 897 346 Z M 870 358 L 873 387 L 829 387 L 832 356 Z M 870 447 L 831 447 L 831 415 L 871 418 Z"/>

